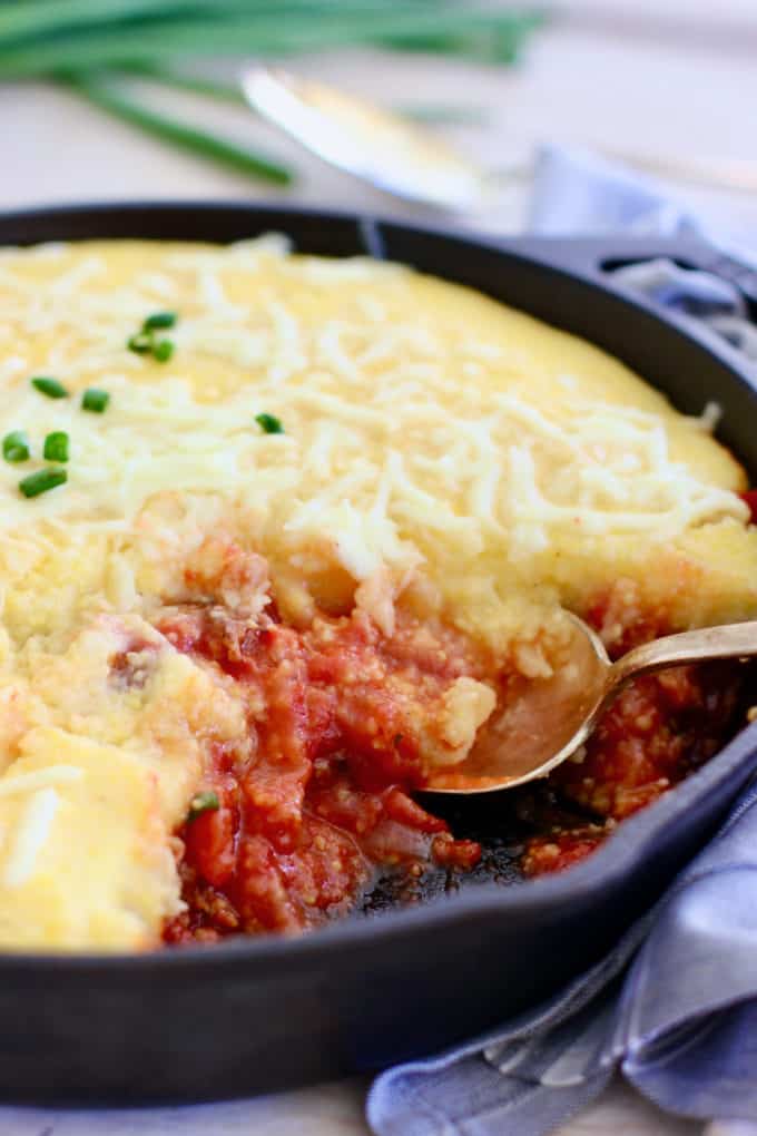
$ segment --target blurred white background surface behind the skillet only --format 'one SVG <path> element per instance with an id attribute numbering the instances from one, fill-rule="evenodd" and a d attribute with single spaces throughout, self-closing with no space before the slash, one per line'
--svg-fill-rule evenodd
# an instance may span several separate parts
<path id="1" fill-rule="evenodd" d="M 287 66 L 390 106 L 468 108 L 464 125 L 436 126 L 486 165 L 552 141 L 651 157 L 750 160 L 757 169 L 757 0 L 552 0 L 553 18 L 516 67 L 378 50 L 298 56 Z M 233 66 L 220 72 L 233 77 Z M 52 85 L 0 85 L 0 208 L 117 198 L 279 195 L 294 201 L 413 212 L 308 158 L 242 107 L 153 84 L 151 106 L 302 172 L 279 192 L 178 153 Z M 671 192 L 757 243 L 757 194 L 684 182 Z M 503 195 L 497 225 L 523 224 L 528 185 Z"/>

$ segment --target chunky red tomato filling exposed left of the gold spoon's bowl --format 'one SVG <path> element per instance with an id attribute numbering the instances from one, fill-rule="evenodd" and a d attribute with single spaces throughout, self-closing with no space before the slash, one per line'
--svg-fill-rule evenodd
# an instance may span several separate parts
<path id="1" fill-rule="evenodd" d="M 382 869 L 478 861 L 409 795 L 440 695 L 481 671 L 462 636 L 399 619 L 387 638 L 360 611 L 251 630 L 201 607 L 160 630 L 241 684 L 253 742 L 243 757 L 216 749 L 202 790 L 218 808 L 177 834 L 187 909 L 167 942 L 297 932 L 346 913 Z"/>

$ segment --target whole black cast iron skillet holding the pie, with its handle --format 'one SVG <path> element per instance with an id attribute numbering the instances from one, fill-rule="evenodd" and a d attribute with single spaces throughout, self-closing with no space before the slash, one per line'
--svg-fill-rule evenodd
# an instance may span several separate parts
<path id="1" fill-rule="evenodd" d="M 368 252 L 478 287 L 619 356 L 681 410 L 698 414 L 716 400 L 722 440 L 757 475 L 757 391 L 737 353 L 623 294 L 606 273 L 672 256 L 735 278 L 754 301 L 754 278 L 704 245 L 494 243 L 345 214 L 193 203 L 5 215 L 0 244 L 226 242 L 271 229 L 302 251 Z M 439 1050 L 546 996 L 596 960 L 713 832 L 755 768 L 751 727 L 563 876 L 508 887 L 474 884 L 296 939 L 141 957 L 2 955 L 0 1094 L 37 1102 L 218 1097 Z M 489 834 L 508 830 L 507 802 L 488 808 Z M 476 818 L 461 824 L 476 827 Z M 496 840 L 490 846 L 496 852 Z"/>

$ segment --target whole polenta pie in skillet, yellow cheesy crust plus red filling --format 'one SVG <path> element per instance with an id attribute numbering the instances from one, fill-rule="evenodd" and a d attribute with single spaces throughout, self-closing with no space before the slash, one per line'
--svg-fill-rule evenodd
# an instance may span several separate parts
<path id="1" fill-rule="evenodd" d="M 369 259 L 0 253 L 0 946 L 295 933 L 470 869 L 419 803 L 552 674 L 754 617 L 714 408 Z M 535 833 L 562 868 L 735 728 L 733 667 L 634 684 Z M 703 709 L 706 703 L 706 712 Z"/>

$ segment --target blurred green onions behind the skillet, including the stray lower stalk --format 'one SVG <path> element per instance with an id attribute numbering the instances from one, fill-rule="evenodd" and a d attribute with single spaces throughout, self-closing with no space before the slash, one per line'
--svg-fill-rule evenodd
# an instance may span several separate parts
<path id="1" fill-rule="evenodd" d="M 342 47 L 440 52 L 511 64 L 541 23 L 538 10 L 486 0 L 0 0 L 0 82 L 56 78 L 94 106 L 182 150 L 286 185 L 276 159 L 148 108 L 113 72 L 233 102 L 235 82 L 187 68 L 219 56 L 283 56 Z M 116 76 L 117 77 L 117 76 Z M 461 122 L 460 108 L 426 122 Z M 470 119 L 470 112 L 469 112 Z"/>

